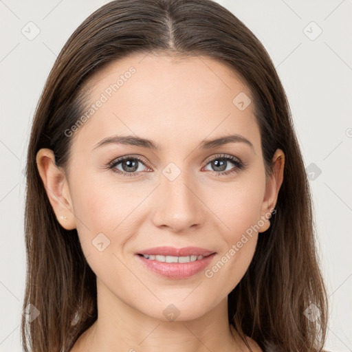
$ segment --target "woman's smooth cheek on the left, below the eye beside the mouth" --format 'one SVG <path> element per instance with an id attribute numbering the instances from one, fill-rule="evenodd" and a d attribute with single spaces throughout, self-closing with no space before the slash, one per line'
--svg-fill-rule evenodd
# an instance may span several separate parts
<path id="1" fill-rule="evenodd" d="M 72 197 L 80 245 L 89 267 L 102 279 L 118 277 L 117 272 L 123 278 L 125 271 L 118 256 L 129 236 L 123 228 L 133 204 L 126 204 L 131 198 L 115 188 L 107 182 L 102 186 L 94 180 L 81 180 Z"/>

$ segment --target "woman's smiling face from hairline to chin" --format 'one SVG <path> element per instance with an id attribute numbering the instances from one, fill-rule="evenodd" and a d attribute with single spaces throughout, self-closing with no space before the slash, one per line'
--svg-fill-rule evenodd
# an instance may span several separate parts
<path id="1" fill-rule="evenodd" d="M 167 307 L 197 318 L 245 274 L 281 185 L 265 179 L 250 91 L 212 58 L 145 54 L 111 63 L 87 84 L 91 115 L 67 132 L 63 197 L 72 212 L 52 203 L 56 214 L 77 228 L 101 292 L 160 320 Z M 230 135 L 237 138 L 219 140 Z M 116 138 L 126 136 L 134 142 Z M 157 247 L 200 248 L 159 255 L 208 252 L 159 263 L 148 251 Z"/>

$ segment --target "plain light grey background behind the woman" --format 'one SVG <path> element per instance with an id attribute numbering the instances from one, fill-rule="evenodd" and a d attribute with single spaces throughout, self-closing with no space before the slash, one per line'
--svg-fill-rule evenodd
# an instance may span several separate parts
<path id="1" fill-rule="evenodd" d="M 69 35 L 107 2 L 0 0 L 0 351 L 22 351 L 23 168 L 34 109 Z M 331 304 L 326 346 L 352 351 L 351 0 L 218 2 L 256 34 L 285 87 L 314 195 L 317 245 Z M 40 30 L 32 41 L 21 32 L 34 33 L 30 21 Z"/>

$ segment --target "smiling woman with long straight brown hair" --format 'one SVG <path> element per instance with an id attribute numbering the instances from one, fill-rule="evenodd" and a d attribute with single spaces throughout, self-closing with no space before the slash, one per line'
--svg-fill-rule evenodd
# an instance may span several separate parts
<path id="1" fill-rule="evenodd" d="M 25 351 L 322 351 L 289 104 L 221 5 L 91 14 L 47 79 L 27 179 Z"/>

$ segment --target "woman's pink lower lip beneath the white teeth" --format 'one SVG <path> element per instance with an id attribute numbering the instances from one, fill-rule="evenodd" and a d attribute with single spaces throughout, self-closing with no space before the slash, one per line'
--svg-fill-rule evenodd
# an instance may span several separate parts
<path id="1" fill-rule="evenodd" d="M 167 278 L 188 278 L 204 270 L 210 261 L 212 261 L 215 254 L 216 253 L 210 254 L 210 256 L 206 256 L 200 261 L 190 261 L 189 263 L 166 263 L 155 260 L 152 261 L 140 255 L 137 255 L 137 257 L 152 272 L 156 272 Z"/>

